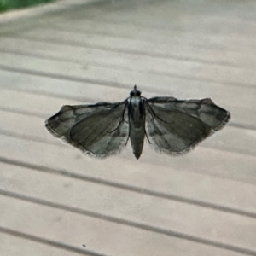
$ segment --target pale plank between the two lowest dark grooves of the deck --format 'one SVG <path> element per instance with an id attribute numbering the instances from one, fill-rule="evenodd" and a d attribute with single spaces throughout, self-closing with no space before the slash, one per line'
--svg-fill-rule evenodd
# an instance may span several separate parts
<path id="1" fill-rule="evenodd" d="M 123 224 L 63 211 L 61 209 L 38 206 L 29 201 L 0 195 L 3 212 L 7 221 L 3 227 L 22 231 L 31 236 L 41 236 L 50 241 L 59 241 L 69 246 L 86 248 L 103 255 L 150 255 L 150 253 L 180 253 L 182 255 L 242 255 L 230 250 L 193 243 L 175 236 L 165 236 L 147 230 L 127 227 Z M 19 209 L 19 218 L 16 211 Z M 29 220 L 29 222 L 28 222 Z M 111 236 L 109 236 L 111 234 Z M 193 244 L 193 246 L 191 246 Z"/>

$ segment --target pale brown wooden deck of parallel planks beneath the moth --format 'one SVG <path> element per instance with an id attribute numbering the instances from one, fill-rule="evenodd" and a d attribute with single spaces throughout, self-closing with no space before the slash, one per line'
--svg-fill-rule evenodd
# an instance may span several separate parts
<path id="1" fill-rule="evenodd" d="M 256 2 L 64 2 L 0 16 L 0 255 L 256 255 Z M 134 84 L 232 118 L 177 158 L 92 159 L 44 128 Z"/>

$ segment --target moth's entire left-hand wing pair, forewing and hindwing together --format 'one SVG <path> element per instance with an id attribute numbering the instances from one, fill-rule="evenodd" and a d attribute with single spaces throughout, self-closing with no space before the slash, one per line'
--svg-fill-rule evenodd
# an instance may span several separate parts
<path id="1" fill-rule="evenodd" d="M 127 101 L 63 106 L 45 126 L 55 137 L 84 153 L 104 158 L 125 146 L 129 136 L 127 115 Z"/>

